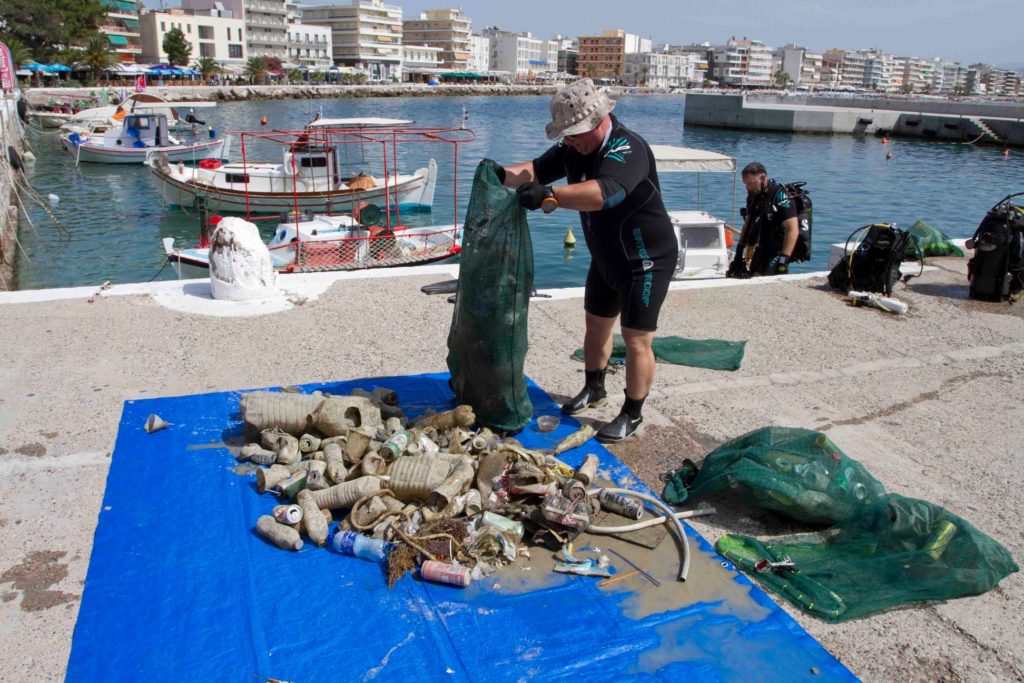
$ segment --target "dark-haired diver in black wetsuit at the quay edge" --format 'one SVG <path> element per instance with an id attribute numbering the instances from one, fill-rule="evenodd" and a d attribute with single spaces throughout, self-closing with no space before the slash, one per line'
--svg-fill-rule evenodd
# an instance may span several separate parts
<path id="1" fill-rule="evenodd" d="M 741 175 L 746 187 L 743 231 L 726 276 L 785 274 L 800 237 L 797 207 L 785 187 L 768 178 L 763 164 L 748 164 Z M 749 264 L 745 248 L 754 250 Z"/>

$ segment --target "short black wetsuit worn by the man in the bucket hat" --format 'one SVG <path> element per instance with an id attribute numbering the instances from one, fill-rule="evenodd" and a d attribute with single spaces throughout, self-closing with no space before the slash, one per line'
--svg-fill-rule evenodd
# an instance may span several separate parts
<path id="1" fill-rule="evenodd" d="M 662 202 L 650 146 L 615 117 L 601 147 L 581 155 L 564 142 L 534 160 L 537 181 L 597 180 L 598 211 L 581 211 L 590 249 L 584 308 L 602 317 L 622 314 L 623 327 L 653 331 L 679 259 L 679 244 Z"/>

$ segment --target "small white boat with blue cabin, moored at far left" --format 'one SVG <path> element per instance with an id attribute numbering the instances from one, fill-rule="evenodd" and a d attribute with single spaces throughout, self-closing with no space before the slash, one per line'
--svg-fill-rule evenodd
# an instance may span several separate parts
<path id="1" fill-rule="evenodd" d="M 142 164 L 154 153 L 160 153 L 166 163 L 184 164 L 220 160 L 226 154 L 225 139 L 182 142 L 175 138 L 163 114 L 129 114 L 119 126 L 100 124 L 89 132 L 66 132 L 60 143 L 75 155 L 76 164 Z"/>

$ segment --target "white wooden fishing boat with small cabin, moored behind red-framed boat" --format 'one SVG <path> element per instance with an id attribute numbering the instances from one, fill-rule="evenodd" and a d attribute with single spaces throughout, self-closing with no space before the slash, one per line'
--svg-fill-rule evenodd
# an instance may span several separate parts
<path id="1" fill-rule="evenodd" d="M 168 206 L 193 207 L 201 199 L 212 211 L 280 214 L 287 211 L 340 213 L 371 203 L 389 210 L 429 210 L 437 182 L 433 159 L 413 173 L 398 173 L 384 155 L 379 170 L 369 169 L 367 148 L 393 145 L 427 135 L 394 119 L 319 119 L 301 131 L 240 132 L 242 161 L 198 167 L 151 158 L 152 176 Z M 408 139 L 407 139 L 408 138 Z M 254 142 L 282 145 L 282 161 L 246 158 Z"/>

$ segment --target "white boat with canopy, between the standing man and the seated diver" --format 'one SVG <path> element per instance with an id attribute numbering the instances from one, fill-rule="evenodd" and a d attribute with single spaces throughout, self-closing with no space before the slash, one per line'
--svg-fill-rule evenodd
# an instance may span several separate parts
<path id="1" fill-rule="evenodd" d="M 735 253 L 732 247 L 738 240 L 739 230 L 700 210 L 700 174 L 732 173 L 732 205 L 735 213 L 736 160 L 717 152 L 670 144 L 652 144 L 651 152 L 654 153 L 658 175 L 695 173 L 697 177 L 696 210 L 669 211 L 679 241 L 679 261 L 673 279 L 725 278 Z"/>

